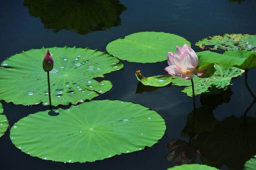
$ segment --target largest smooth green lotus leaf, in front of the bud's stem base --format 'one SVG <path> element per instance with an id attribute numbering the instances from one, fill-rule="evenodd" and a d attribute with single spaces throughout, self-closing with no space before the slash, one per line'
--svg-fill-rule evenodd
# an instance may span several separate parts
<path id="1" fill-rule="evenodd" d="M 11 128 L 17 148 L 45 160 L 92 162 L 142 150 L 164 135 L 164 120 L 142 105 L 121 101 L 90 101 L 24 117 Z"/>

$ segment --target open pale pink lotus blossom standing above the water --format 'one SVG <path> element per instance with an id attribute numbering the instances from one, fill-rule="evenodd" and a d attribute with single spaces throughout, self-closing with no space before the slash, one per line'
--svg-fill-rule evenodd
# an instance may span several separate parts
<path id="1" fill-rule="evenodd" d="M 184 44 L 183 47 L 176 46 L 177 54 L 173 52 L 168 53 L 168 67 L 164 70 L 170 75 L 176 77 L 182 77 L 184 80 L 190 80 L 193 78 L 194 74 L 200 76 L 204 71 L 194 72 L 198 66 L 198 57 L 195 51 Z"/>

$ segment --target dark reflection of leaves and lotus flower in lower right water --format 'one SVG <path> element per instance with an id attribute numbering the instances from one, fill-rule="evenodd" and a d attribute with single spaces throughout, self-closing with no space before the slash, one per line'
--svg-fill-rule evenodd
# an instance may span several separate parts
<path id="1" fill-rule="evenodd" d="M 210 97 L 210 96 L 211 97 Z M 214 118 L 213 111 L 228 103 L 232 91 L 202 94 L 202 106 L 196 108 L 196 114 L 190 112 L 181 136 L 190 138 L 189 142 L 172 140 L 167 146 L 171 149 L 166 160 L 175 165 L 195 163 L 199 156 L 202 164 L 221 168 L 241 170 L 244 163 L 256 154 L 256 118 L 246 117 L 252 101 L 241 117 L 230 116 L 223 121 Z"/>

